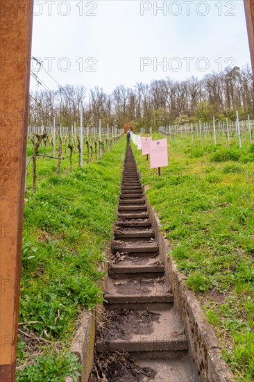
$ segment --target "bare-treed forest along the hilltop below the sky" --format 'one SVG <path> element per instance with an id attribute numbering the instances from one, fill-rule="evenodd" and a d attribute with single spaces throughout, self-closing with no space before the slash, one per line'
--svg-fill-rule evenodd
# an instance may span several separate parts
<path id="1" fill-rule="evenodd" d="M 64 85 L 58 90 L 31 92 L 29 124 L 69 126 L 79 124 L 81 108 L 84 126 L 123 126 L 132 122 L 135 128 L 158 128 L 167 124 L 210 122 L 254 117 L 254 85 L 251 68 L 234 67 L 223 72 L 194 76 L 185 81 L 173 78 L 136 83 L 133 88 L 119 85 L 112 94 L 102 88 Z"/>

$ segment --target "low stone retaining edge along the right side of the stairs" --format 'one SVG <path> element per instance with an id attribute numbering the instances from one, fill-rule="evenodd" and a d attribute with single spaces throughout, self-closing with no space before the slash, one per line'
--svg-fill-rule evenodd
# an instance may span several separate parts
<path id="1" fill-rule="evenodd" d="M 187 289 L 186 276 L 177 271 L 176 262 L 169 256 L 171 251 L 169 241 L 162 235 L 160 220 L 151 206 L 149 206 L 149 215 L 160 253 L 164 258 L 166 279 L 169 279 L 173 292 L 173 304 L 176 305 L 180 319 L 183 319 L 189 354 L 192 356 L 198 374 L 204 382 L 235 381 L 230 367 L 221 359 L 219 340 L 205 317 L 198 299 L 194 292 Z"/>

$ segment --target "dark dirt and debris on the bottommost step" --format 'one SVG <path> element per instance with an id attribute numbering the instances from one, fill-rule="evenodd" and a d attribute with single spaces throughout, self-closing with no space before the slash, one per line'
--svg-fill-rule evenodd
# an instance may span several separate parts
<path id="1" fill-rule="evenodd" d="M 139 367 L 128 354 L 112 352 L 94 355 L 89 382 L 145 382 L 155 377 L 151 367 Z"/>

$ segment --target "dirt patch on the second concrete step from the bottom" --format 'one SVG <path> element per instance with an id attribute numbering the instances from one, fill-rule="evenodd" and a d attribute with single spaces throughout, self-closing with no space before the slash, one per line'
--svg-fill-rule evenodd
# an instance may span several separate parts
<path id="1" fill-rule="evenodd" d="M 156 312 L 133 312 L 133 310 L 112 310 L 103 313 L 103 322 L 97 329 L 99 339 L 128 340 L 133 334 L 151 334 L 153 322 L 157 322 L 160 313 Z"/>

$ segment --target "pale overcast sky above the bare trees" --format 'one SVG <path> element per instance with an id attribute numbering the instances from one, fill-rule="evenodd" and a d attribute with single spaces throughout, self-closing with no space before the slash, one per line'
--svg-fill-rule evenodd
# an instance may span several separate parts
<path id="1" fill-rule="evenodd" d="M 105 92 L 251 62 L 243 0 L 34 1 L 32 55 L 43 62 L 45 70 L 35 61 L 31 70 L 45 87 Z"/>

